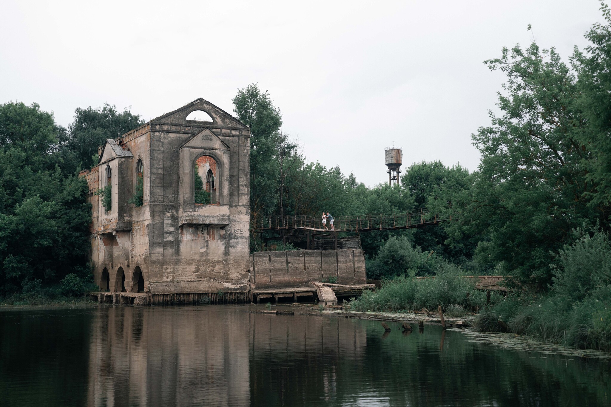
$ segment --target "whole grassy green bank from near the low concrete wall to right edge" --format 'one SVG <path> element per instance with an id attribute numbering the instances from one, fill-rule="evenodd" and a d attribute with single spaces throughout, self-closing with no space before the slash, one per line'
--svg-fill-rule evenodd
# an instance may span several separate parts
<path id="1" fill-rule="evenodd" d="M 400 276 L 351 301 L 353 311 L 418 311 L 424 307 L 460 316 L 481 309 L 481 331 L 527 334 L 575 348 L 611 351 L 611 244 L 602 232 L 582 234 L 558 256 L 554 285 L 543 293 L 510 290 L 507 297 L 485 293 L 461 269 L 445 264 L 434 279 Z"/>

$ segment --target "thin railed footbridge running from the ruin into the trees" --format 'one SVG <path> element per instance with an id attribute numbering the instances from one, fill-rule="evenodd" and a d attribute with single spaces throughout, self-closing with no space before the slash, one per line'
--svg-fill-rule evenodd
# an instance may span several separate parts
<path id="1" fill-rule="evenodd" d="M 411 228 L 431 225 L 437 222 L 442 222 L 445 219 L 439 218 L 437 214 L 431 214 L 428 211 L 419 211 L 406 214 L 393 215 L 357 215 L 343 216 L 334 218 L 335 229 L 344 231 L 360 231 L 360 230 L 375 230 L 375 229 L 397 229 Z M 285 215 L 285 216 L 268 216 L 255 217 L 252 219 L 251 227 L 257 229 L 331 229 L 331 222 L 327 220 L 326 225 L 323 225 L 322 217 L 313 217 L 310 215 Z"/>

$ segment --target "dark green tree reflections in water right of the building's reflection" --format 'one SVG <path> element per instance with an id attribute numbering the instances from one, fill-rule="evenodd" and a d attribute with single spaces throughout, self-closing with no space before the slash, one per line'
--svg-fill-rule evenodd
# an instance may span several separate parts
<path id="1" fill-rule="evenodd" d="M 295 346 L 279 340 L 267 350 L 255 347 L 251 353 L 255 405 L 307 405 L 321 400 L 329 405 L 608 403 L 608 363 L 503 350 L 467 342 L 452 331 L 445 334 L 441 350 L 442 330 L 433 326 L 426 326 L 424 334 L 402 335 L 395 330 L 384 337 L 378 322 L 329 319 L 324 330 L 327 335 L 318 341 L 324 344 L 318 352 L 313 347 L 295 351 Z M 332 333 L 350 332 L 363 347 L 350 347 L 346 335 L 345 343 L 331 345 Z"/>

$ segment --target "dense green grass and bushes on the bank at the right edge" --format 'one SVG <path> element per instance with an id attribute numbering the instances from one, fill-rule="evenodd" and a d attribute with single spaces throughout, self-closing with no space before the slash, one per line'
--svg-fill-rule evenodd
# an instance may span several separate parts
<path id="1" fill-rule="evenodd" d="M 611 245 L 598 232 L 560 253 L 545 295 L 510 295 L 481 312 L 482 331 L 529 334 L 577 348 L 611 351 Z"/>

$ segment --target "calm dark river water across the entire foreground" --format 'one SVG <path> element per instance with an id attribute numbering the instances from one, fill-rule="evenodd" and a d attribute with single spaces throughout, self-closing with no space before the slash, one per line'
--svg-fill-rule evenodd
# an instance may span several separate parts
<path id="1" fill-rule="evenodd" d="M 2 311 L 0 405 L 611 405 L 611 362 L 249 307 Z"/>

